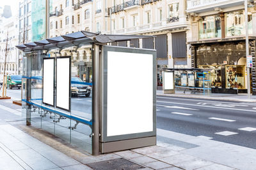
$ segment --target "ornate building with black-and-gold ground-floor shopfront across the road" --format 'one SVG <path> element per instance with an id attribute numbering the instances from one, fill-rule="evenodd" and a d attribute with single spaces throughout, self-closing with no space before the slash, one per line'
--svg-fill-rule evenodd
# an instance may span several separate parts
<path id="1" fill-rule="evenodd" d="M 243 93 L 247 74 L 252 75 L 252 90 L 256 95 L 255 36 L 256 11 L 248 9 L 252 73 L 246 73 L 245 12 L 243 0 L 188 0 L 187 13 L 191 18 L 191 67 L 211 71 L 212 92 Z"/>

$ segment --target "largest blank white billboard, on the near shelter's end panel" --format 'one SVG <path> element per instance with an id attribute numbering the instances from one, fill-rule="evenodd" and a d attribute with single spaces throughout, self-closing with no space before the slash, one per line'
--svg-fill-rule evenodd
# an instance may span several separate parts
<path id="1" fill-rule="evenodd" d="M 153 55 L 108 51 L 107 136 L 153 131 Z"/>

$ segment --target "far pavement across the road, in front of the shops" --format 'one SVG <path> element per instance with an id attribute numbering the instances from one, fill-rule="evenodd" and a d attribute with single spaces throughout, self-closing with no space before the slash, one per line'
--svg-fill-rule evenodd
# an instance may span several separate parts
<path id="1" fill-rule="evenodd" d="M 175 94 L 163 94 L 163 90 L 157 90 L 157 95 L 169 96 L 169 97 L 189 97 L 196 99 L 212 99 L 212 100 L 222 100 L 222 101 L 238 101 L 238 102 L 256 102 L 256 96 L 251 96 L 248 99 L 247 94 L 212 94 L 209 95 L 202 92 L 196 92 L 196 94 L 191 94 L 191 91 L 176 90 Z"/>

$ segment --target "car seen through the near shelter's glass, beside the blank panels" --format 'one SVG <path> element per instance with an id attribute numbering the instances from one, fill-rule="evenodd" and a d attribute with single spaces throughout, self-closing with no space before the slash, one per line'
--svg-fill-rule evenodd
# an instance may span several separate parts
<path id="1" fill-rule="evenodd" d="M 89 85 L 84 85 L 83 80 L 79 77 L 71 78 L 71 94 L 72 96 L 85 95 L 89 97 L 91 94 L 91 89 Z"/>

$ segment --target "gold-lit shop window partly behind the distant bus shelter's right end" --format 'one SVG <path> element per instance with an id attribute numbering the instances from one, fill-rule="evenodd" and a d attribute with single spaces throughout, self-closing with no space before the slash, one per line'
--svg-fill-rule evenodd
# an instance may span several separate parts
<path id="1" fill-rule="evenodd" d="M 221 66 L 199 66 L 200 69 L 209 69 L 212 87 L 221 87 Z"/>

